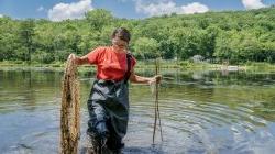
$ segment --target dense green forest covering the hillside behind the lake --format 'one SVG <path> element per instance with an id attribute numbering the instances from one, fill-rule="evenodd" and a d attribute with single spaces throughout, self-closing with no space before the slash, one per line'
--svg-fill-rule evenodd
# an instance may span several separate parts
<path id="1" fill-rule="evenodd" d="M 85 55 L 109 45 L 116 28 L 131 31 L 131 52 L 139 59 L 275 63 L 275 8 L 251 11 L 172 14 L 147 19 L 119 19 L 98 9 L 85 19 L 52 22 L 45 19 L 0 18 L 0 62 L 64 62 L 69 53 Z"/>

